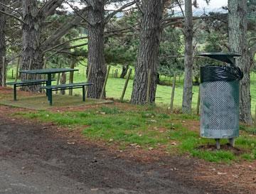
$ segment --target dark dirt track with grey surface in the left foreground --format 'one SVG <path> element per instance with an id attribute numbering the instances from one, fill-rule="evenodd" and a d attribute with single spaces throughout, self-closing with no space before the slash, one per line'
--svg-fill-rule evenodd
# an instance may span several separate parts
<path id="1" fill-rule="evenodd" d="M 58 131 L 0 115 L 0 193 L 235 193 L 194 181 L 188 158 L 139 163 Z"/>

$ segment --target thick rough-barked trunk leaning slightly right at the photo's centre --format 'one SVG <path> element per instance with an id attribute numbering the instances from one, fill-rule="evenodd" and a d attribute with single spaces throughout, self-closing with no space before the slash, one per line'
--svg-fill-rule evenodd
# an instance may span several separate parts
<path id="1" fill-rule="evenodd" d="M 151 70 L 149 103 L 156 97 L 156 75 L 159 65 L 159 42 L 161 35 L 161 18 L 164 2 L 162 0 L 142 1 L 142 27 L 140 35 L 139 53 L 135 67 L 134 84 L 132 90 L 132 104 L 146 103 L 146 85 L 148 72 Z"/>

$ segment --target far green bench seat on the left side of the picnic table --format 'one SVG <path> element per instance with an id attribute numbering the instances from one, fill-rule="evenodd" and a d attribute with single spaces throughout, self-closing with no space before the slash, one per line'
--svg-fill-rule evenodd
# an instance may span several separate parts
<path id="1" fill-rule="evenodd" d="M 55 80 L 51 80 L 55 81 Z M 18 81 L 18 82 L 6 82 L 6 85 L 13 85 L 14 86 L 14 100 L 17 100 L 17 87 L 23 87 L 23 86 L 28 86 L 28 85 L 41 85 L 41 84 L 46 84 L 47 80 L 46 79 L 40 79 L 40 80 L 23 80 L 23 81 Z"/>

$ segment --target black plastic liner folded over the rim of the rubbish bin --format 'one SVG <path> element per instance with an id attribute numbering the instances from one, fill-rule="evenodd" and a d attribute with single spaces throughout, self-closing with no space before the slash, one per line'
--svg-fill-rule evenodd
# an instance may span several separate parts
<path id="1" fill-rule="evenodd" d="M 238 67 L 207 65 L 200 68 L 202 82 L 242 80 L 243 73 Z"/>

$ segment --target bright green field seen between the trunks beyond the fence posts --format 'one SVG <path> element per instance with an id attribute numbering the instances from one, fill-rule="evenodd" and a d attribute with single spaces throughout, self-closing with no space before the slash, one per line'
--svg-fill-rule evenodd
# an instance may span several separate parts
<path id="1" fill-rule="evenodd" d="M 84 82 L 86 81 L 85 72 L 86 68 L 82 65 L 76 67 L 79 69 L 78 72 L 75 72 L 74 75 L 74 82 Z M 115 65 L 111 67 L 110 76 L 107 80 L 106 86 L 106 95 L 107 98 L 114 98 L 119 99 L 122 95 L 122 90 L 124 87 L 125 79 L 114 78 L 112 72 L 114 70 L 118 70 L 118 77 L 122 71 L 121 65 Z M 12 69 L 9 68 L 8 71 L 8 81 L 11 79 L 11 71 Z M 15 70 L 14 70 L 15 75 Z M 134 69 L 132 70 L 132 77 L 134 76 Z M 169 82 L 169 85 L 158 85 L 156 90 L 156 105 L 160 107 L 169 107 L 171 101 L 171 82 L 173 77 L 164 77 L 161 76 L 161 81 Z M 67 76 L 68 80 L 68 76 Z M 174 96 L 174 108 L 181 109 L 182 104 L 182 92 L 183 92 L 183 77 L 181 77 L 180 81 L 177 78 L 176 81 L 176 89 L 175 89 L 175 96 Z M 124 100 L 129 101 L 132 95 L 132 82 L 133 80 L 129 80 L 129 84 L 127 87 L 127 92 L 125 93 Z M 74 91 L 75 94 L 79 94 L 81 91 Z M 252 114 L 255 112 L 255 105 L 256 105 L 256 74 L 251 75 L 251 96 L 252 96 Z M 198 86 L 193 86 L 193 104 L 192 107 L 195 110 L 196 104 L 198 99 Z"/>

